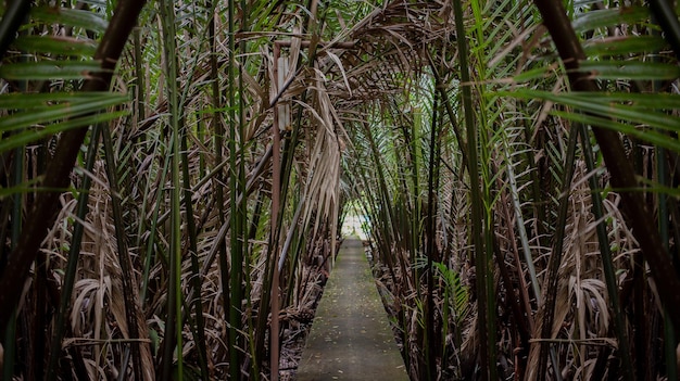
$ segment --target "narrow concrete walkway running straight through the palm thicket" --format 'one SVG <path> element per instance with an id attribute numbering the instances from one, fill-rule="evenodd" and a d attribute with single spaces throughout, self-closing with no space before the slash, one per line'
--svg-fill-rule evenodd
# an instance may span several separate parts
<path id="1" fill-rule="evenodd" d="M 408 380 L 360 240 L 340 249 L 295 380 Z"/>

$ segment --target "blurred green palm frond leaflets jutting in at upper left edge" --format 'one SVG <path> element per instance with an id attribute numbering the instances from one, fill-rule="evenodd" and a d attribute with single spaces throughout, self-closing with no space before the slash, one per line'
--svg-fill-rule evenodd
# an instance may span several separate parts
<path id="1" fill-rule="evenodd" d="M 86 10 L 40 7 L 30 13 L 33 23 L 58 24 L 103 33 L 109 23 L 100 14 Z M 29 62 L 9 62 L 0 66 L 0 77 L 7 80 L 45 81 L 88 79 L 90 73 L 101 72 L 101 63 L 91 59 L 97 42 L 85 35 L 74 37 L 25 35 L 15 39 L 14 49 L 36 53 Z M 83 60 L 80 58 L 87 56 Z M 93 123 L 108 122 L 127 112 L 103 112 L 128 101 L 114 92 L 78 93 L 5 93 L 0 96 L 0 153 L 46 137 Z"/>

